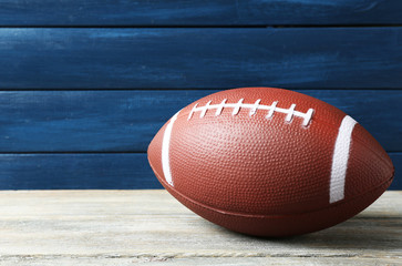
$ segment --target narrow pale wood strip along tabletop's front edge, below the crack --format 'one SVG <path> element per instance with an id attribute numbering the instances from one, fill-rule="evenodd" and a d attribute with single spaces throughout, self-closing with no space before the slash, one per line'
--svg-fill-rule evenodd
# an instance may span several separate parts
<path id="1" fill-rule="evenodd" d="M 255 266 L 255 265 L 340 265 L 340 266 L 378 266 L 378 265 L 401 265 L 400 257 L 371 257 L 371 258 L 355 258 L 355 257 L 316 257 L 300 256 L 300 257 L 164 257 L 164 256 L 117 256 L 117 255 L 95 255 L 95 256 L 2 256 L 0 259 L 3 266 L 70 266 L 72 264 L 80 266 L 132 266 L 135 264 L 146 264 L 146 266 L 210 266 L 210 265 L 225 265 L 225 266 Z"/>

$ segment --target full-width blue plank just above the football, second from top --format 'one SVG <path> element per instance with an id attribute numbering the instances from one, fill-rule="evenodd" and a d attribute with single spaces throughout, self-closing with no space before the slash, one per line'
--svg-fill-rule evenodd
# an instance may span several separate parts
<path id="1" fill-rule="evenodd" d="M 402 28 L 0 29 L 0 89 L 402 88 Z"/>

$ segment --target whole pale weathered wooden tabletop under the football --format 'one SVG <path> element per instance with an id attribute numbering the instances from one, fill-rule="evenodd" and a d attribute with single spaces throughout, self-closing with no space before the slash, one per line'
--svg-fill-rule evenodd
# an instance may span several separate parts
<path id="1" fill-rule="evenodd" d="M 402 265 L 402 192 L 332 228 L 257 238 L 165 191 L 2 191 L 0 265 Z"/>

